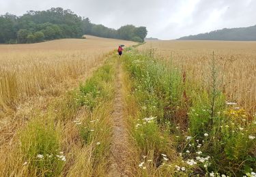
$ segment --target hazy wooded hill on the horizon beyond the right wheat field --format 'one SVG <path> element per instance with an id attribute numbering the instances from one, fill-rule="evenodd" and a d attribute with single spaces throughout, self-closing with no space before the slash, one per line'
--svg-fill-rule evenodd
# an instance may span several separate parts
<path id="1" fill-rule="evenodd" d="M 178 40 L 256 41 L 256 25 L 244 28 L 219 29 L 210 33 L 180 37 Z"/>

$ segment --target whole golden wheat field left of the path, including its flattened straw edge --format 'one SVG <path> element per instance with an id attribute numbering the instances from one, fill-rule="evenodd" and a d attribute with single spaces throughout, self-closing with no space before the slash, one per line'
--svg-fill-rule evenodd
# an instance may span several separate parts
<path id="1" fill-rule="evenodd" d="M 89 78 L 119 44 L 135 44 L 118 39 L 86 37 L 38 44 L 0 45 L 1 150 L 5 151 L 16 131 L 35 112 L 43 112 L 54 99 Z"/>

